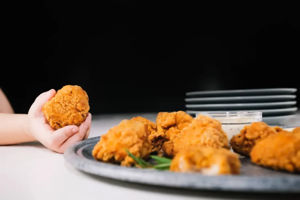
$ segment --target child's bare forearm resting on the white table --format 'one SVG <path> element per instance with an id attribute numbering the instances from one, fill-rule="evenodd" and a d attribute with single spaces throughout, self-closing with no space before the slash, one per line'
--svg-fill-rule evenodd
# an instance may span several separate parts
<path id="1" fill-rule="evenodd" d="M 35 140 L 29 132 L 28 115 L 0 113 L 0 145 L 11 145 Z"/>

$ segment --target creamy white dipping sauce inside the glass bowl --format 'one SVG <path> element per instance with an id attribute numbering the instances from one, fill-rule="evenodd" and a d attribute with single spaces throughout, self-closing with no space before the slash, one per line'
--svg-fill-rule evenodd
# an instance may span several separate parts
<path id="1" fill-rule="evenodd" d="M 257 121 L 257 118 L 251 116 L 227 116 L 227 117 L 213 117 L 222 123 L 222 128 L 227 134 L 228 141 L 244 128 Z"/>

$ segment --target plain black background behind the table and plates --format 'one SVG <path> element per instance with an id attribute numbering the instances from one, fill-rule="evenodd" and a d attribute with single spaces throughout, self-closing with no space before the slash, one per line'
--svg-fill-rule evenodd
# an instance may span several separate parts
<path id="1" fill-rule="evenodd" d="M 299 86 L 295 5 L 45 1 L 19 9 L 6 29 L 1 81 L 17 113 L 64 85 L 88 93 L 92 114 L 185 110 L 188 91 Z"/>

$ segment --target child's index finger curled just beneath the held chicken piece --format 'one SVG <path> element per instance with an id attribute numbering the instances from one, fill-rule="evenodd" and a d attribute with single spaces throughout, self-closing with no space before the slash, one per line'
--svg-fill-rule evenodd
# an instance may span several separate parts
<path id="1" fill-rule="evenodd" d="M 53 149 L 54 147 L 53 149 L 54 151 L 61 153 L 59 151 L 61 144 L 63 144 L 68 138 L 72 137 L 74 134 L 78 132 L 79 132 L 79 128 L 75 125 L 65 126 L 58 130 L 55 130 L 50 136 L 49 145 L 50 147 L 52 147 L 51 149 Z M 57 147 L 57 149 L 55 147 Z"/>

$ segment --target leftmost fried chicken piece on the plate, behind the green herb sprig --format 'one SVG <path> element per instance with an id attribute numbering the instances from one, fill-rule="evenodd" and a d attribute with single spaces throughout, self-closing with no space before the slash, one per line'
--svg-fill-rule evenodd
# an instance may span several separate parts
<path id="1" fill-rule="evenodd" d="M 95 160 L 132 166 L 135 161 L 127 155 L 125 149 L 136 157 L 147 158 L 152 149 L 148 137 L 149 130 L 145 124 L 125 119 L 101 136 L 92 155 Z"/>

